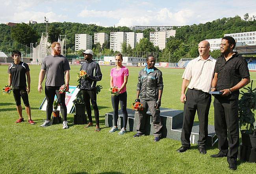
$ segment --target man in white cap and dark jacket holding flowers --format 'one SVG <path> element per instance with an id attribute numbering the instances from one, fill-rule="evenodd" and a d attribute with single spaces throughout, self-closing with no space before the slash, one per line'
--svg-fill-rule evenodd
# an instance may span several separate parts
<path id="1" fill-rule="evenodd" d="M 102 74 L 100 71 L 100 65 L 93 61 L 93 51 L 86 50 L 82 52 L 85 63 L 81 66 L 80 70 L 85 70 L 88 77 L 81 81 L 81 90 L 83 95 L 83 100 L 85 102 L 86 112 L 89 119 L 89 124 L 85 128 L 93 126 L 93 119 L 91 117 L 91 104 L 94 109 L 94 115 L 96 120 L 95 131 L 100 131 L 100 120 L 99 120 L 99 109 L 97 106 L 97 94 L 96 94 L 96 81 L 100 81 Z M 91 104 L 90 104 L 91 99 Z"/>

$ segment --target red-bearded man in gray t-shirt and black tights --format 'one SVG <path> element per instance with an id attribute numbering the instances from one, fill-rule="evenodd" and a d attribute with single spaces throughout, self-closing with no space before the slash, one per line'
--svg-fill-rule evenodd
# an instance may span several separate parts
<path id="1" fill-rule="evenodd" d="M 65 56 L 62 56 L 61 46 L 58 42 L 52 43 L 52 54 L 47 56 L 42 61 L 41 71 L 39 74 L 38 91 L 43 90 L 42 82 L 45 78 L 45 96 L 47 100 L 46 120 L 41 125 L 42 127 L 50 126 L 51 115 L 53 109 L 54 96 L 56 94 L 60 105 L 61 115 L 63 117 L 63 129 L 69 128 L 67 125 L 67 107 L 65 104 L 65 93 L 59 93 L 59 87 L 66 85 L 66 91 L 69 91 L 69 61 Z M 65 76 L 65 77 L 64 77 Z M 65 78 L 65 80 L 64 80 Z M 66 83 L 65 83 L 66 82 Z"/>

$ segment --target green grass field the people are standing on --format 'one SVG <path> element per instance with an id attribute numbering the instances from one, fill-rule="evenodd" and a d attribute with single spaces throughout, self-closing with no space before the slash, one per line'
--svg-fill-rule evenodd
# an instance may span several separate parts
<path id="1" fill-rule="evenodd" d="M 79 68 L 71 66 L 70 85 L 77 85 Z M 30 66 L 32 83 L 29 98 L 35 125 L 27 122 L 15 124 L 18 114 L 13 95 L 0 94 L 0 173 L 233 173 L 228 169 L 226 158 L 210 157 L 218 152 L 217 144 L 208 149 L 206 155 L 199 154 L 193 144 L 191 150 L 179 154 L 176 149 L 180 147 L 180 141 L 161 139 L 154 143 L 153 136 L 135 139 L 132 137 L 134 132 L 125 135 L 109 133 L 109 128 L 104 126 L 104 116 L 112 111 L 108 91 L 110 68 L 101 67 L 103 78 L 97 83 L 103 86 L 97 96 L 102 127 L 98 133 L 93 127 L 85 130 L 83 125 L 73 126 L 73 114 L 68 114 L 70 128 L 67 130 L 63 130 L 61 124 L 39 127 L 46 118 L 45 111 L 38 110 L 45 98 L 44 93 L 37 92 L 40 66 Z M 128 68 L 128 107 L 131 107 L 141 68 Z M 161 68 L 161 71 L 164 82 L 161 107 L 182 110 L 180 88 L 184 69 Z M 0 72 L 0 84 L 4 87 L 8 82 L 7 66 L 0 66 Z M 256 79 L 256 72 L 250 72 L 250 75 L 251 79 Z M 27 120 L 24 110 L 23 117 Z M 213 105 L 209 124 L 214 124 Z M 239 161 L 236 173 L 256 173 L 256 164 Z"/>

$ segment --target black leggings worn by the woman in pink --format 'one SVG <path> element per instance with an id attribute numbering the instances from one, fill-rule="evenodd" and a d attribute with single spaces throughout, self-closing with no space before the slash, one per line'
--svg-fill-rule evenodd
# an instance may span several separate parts
<path id="1" fill-rule="evenodd" d="M 115 126 L 117 126 L 117 119 L 118 119 L 118 105 L 119 105 L 119 101 L 120 101 L 120 107 L 122 110 L 122 115 L 123 115 L 123 127 L 126 128 L 127 125 L 127 120 L 128 120 L 128 113 L 126 110 L 126 106 L 127 106 L 127 93 L 126 91 L 122 94 L 119 94 L 118 96 L 112 96 L 111 97 L 111 101 L 112 101 L 112 106 L 114 109 L 114 113 L 113 113 L 113 119 L 114 119 L 114 123 Z"/>

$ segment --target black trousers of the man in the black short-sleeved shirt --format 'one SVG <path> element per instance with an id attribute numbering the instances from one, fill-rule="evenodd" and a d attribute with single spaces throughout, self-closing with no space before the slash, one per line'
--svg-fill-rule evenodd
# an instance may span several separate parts
<path id="1" fill-rule="evenodd" d="M 236 163 L 239 148 L 238 98 L 214 99 L 214 127 L 218 137 L 218 148 L 227 154 L 228 163 Z"/>

